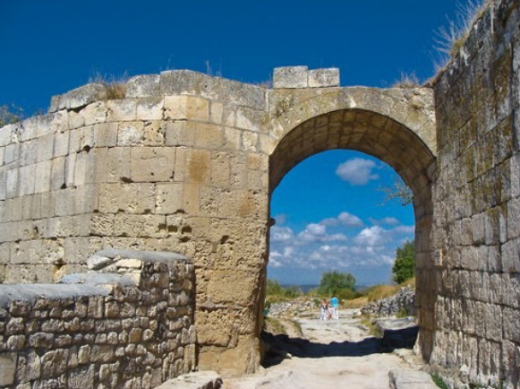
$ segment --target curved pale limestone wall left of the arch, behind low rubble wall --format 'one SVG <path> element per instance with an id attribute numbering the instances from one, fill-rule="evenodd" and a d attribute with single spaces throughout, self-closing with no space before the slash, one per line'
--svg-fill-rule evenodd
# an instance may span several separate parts
<path id="1" fill-rule="evenodd" d="M 106 247 L 181 252 L 197 268 L 200 367 L 254 371 L 268 92 L 190 71 L 125 88 L 86 85 L 0 132 L 4 281 L 53 281 Z"/>

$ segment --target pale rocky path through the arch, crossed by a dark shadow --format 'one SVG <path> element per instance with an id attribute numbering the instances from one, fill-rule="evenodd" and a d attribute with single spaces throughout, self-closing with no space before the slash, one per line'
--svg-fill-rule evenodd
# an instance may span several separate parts
<path id="1" fill-rule="evenodd" d="M 284 335 L 269 341 L 277 350 L 291 358 L 272 358 L 271 366 L 260 374 L 245 378 L 226 379 L 225 389 L 388 389 L 388 371 L 410 368 L 411 350 L 389 352 L 379 338 L 369 336 L 353 312 L 343 312 L 338 321 L 298 319 L 303 338 Z"/>

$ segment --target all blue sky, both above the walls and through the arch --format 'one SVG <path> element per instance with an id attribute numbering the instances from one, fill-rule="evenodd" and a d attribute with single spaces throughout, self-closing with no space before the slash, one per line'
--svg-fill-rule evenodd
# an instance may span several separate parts
<path id="1" fill-rule="evenodd" d="M 415 73 L 424 81 L 439 59 L 435 31 L 455 13 L 453 0 L 0 0 L 0 105 L 15 104 L 31 114 L 47 109 L 52 95 L 81 86 L 97 73 L 119 77 L 183 68 L 242 82 L 265 82 L 274 67 L 284 65 L 337 66 L 344 86 L 388 87 L 401 73 Z M 372 161 L 355 163 L 374 179 L 353 185 L 336 174 L 338 166 L 354 159 Z M 303 184 L 309 178 L 311 183 Z M 391 169 L 359 153 L 315 156 L 291 171 L 273 195 L 273 215 L 285 215 L 277 218 L 277 229 L 290 230 L 298 242 L 312 239 L 306 230 L 321 234 L 298 246 L 301 258 L 325 250 L 328 258 L 350 258 L 338 270 L 354 272 L 360 283 L 388 281 L 388 257 L 410 238 L 396 229 L 413 225 L 409 208 L 375 205 L 381 194 L 374 189 L 393 179 Z M 328 220 L 342 212 L 361 222 Z M 380 221 L 384 218 L 397 222 Z M 371 260 L 340 249 L 354 250 L 356 242 L 363 246 L 356 238 L 360 234 L 368 247 L 370 234 L 378 232 L 384 238 L 377 241 L 379 256 Z M 345 238 L 330 240 L 334 234 Z M 287 253 L 284 245 L 273 242 L 273 252 Z M 283 282 L 319 281 L 323 267 L 288 267 L 284 264 L 294 266 L 294 261 L 287 258 L 272 256 L 269 276 Z M 353 258 L 358 262 L 351 264 Z M 337 266 L 345 261 L 330 259 Z M 275 267 L 275 262 L 282 265 Z"/>

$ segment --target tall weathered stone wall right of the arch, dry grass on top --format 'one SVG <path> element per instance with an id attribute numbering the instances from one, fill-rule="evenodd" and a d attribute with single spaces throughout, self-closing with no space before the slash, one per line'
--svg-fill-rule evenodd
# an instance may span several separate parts
<path id="1" fill-rule="evenodd" d="M 435 83 L 430 363 L 450 386 L 518 388 L 520 3 L 489 3 Z"/>

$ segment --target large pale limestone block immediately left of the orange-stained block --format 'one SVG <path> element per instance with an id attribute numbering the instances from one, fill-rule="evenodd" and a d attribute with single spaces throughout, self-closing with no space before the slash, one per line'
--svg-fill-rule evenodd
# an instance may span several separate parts
<path id="1" fill-rule="evenodd" d="M 131 156 L 131 178 L 133 182 L 173 180 L 175 148 L 133 148 Z"/>

